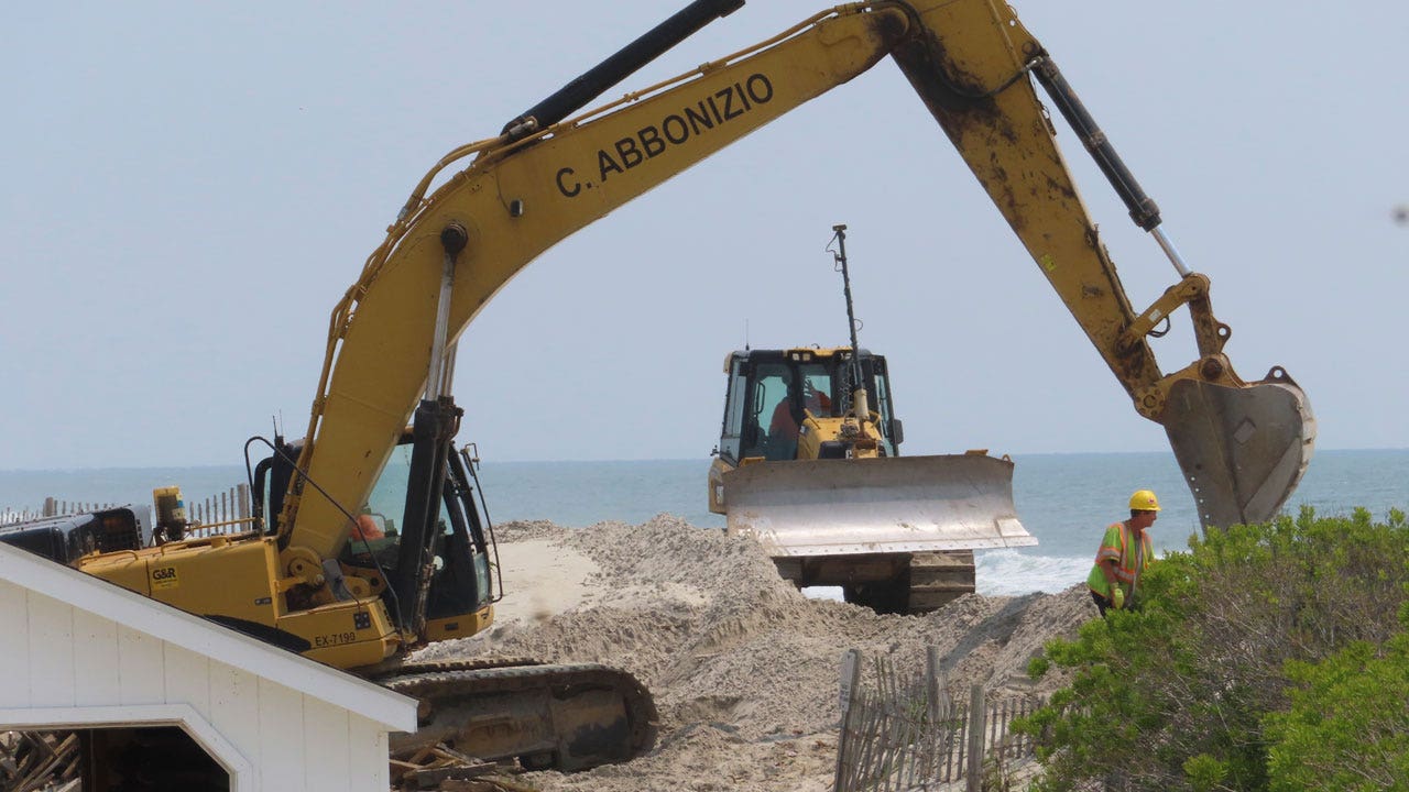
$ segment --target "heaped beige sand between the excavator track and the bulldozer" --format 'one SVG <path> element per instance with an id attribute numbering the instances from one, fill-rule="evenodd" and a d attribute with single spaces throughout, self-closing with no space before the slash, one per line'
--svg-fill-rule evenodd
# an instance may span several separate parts
<path id="1" fill-rule="evenodd" d="M 1027 696 L 1060 682 L 1029 681 L 1029 658 L 1095 616 L 1084 586 L 969 595 L 923 617 L 878 616 L 809 599 L 751 540 L 666 514 L 582 530 L 510 523 L 497 536 L 509 593 L 496 627 L 421 657 L 610 664 L 645 682 L 661 710 L 650 755 L 526 776 L 544 791 L 821 792 L 836 762 L 843 651 L 921 669 L 934 645 L 955 696 L 967 698 L 971 683 L 991 696 Z"/>

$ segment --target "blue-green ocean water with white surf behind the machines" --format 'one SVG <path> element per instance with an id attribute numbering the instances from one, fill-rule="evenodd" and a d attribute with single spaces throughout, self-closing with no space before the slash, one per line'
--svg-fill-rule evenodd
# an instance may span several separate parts
<path id="1" fill-rule="evenodd" d="M 1160 552 L 1182 550 L 1199 530 L 1193 497 L 1174 457 L 1141 454 L 1014 455 L 1013 500 L 1036 547 L 976 554 L 978 589 L 988 595 L 1058 592 L 1084 581 L 1105 527 L 1129 514 L 1136 489 L 1153 489 L 1162 512 L 1151 530 Z M 551 520 L 585 527 L 640 524 L 669 513 L 723 528 L 706 502 L 709 459 L 630 462 L 486 462 L 479 471 L 493 523 Z M 38 509 L 46 496 L 69 502 L 149 503 L 156 486 L 180 485 L 187 503 L 245 481 L 242 466 L 0 471 L 0 513 Z M 1409 512 L 1409 450 L 1317 451 L 1286 510 L 1319 514 L 1364 507 L 1377 519 Z"/>

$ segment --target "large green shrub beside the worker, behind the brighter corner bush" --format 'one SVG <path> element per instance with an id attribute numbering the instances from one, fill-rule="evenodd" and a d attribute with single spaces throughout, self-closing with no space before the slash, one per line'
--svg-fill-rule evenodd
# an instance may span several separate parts
<path id="1" fill-rule="evenodd" d="M 1375 523 L 1364 510 L 1317 519 L 1303 509 L 1296 519 L 1191 540 L 1188 552 L 1151 567 L 1137 610 L 1110 612 L 1082 626 L 1076 640 L 1048 644 L 1047 661 L 1076 674 L 1020 724 L 1037 737 L 1045 765 L 1038 788 L 1281 785 L 1299 750 L 1288 740 L 1309 734 L 1309 726 L 1270 716 L 1295 712 L 1301 683 L 1315 695 L 1312 669 L 1323 661 L 1330 668 L 1339 652 L 1363 651 L 1348 647 L 1386 645 L 1401 630 L 1395 614 L 1406 582 L 1409 528 L 1401 512 Z M 1405 698 L 1391 700 L 1403 714 Z M 1402 726 L 1385 724 L 1386 748 L 1401 755 L 1394 740 Z M 1277 788 L 1302 788 L 1286 784 Z"/>

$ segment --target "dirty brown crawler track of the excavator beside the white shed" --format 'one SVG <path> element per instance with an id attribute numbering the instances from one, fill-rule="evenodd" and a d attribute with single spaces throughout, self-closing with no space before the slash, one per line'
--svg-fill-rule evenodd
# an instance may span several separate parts
<path id="1" fill-rule="evenodd" d="M 420 702 L 414 734 L 392 734 L 393 754 L 445 744 L 526 768 L 588 769 L 655 745 L 659 714 L 631 674 L 600 664 L 526 658 L 404 662 L 369 679 Z"/>

